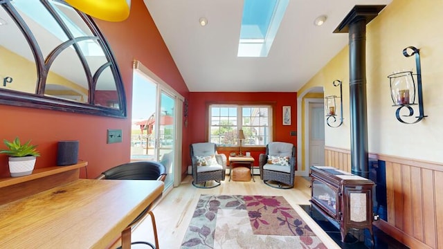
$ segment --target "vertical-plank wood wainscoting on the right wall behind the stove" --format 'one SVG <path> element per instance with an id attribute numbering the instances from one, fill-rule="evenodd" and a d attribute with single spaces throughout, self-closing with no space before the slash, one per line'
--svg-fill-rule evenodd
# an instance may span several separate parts
<path id="1" fill-rule="evenodd" d="M 374 225 L 410 248 L 443 249 L 443 164 L 369 157 L 386 163 L 388 221 Z M 325 165 L 351 172 L 350 150 L 325 147 Z"/>

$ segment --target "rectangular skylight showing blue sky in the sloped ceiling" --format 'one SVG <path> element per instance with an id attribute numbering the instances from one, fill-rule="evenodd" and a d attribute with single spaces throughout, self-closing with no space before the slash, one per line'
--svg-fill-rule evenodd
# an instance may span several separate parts
<path id="1" fill-rule="evenodd" d="M 289 0 L 244 0 L 238 57 L 267 57 Z"/>

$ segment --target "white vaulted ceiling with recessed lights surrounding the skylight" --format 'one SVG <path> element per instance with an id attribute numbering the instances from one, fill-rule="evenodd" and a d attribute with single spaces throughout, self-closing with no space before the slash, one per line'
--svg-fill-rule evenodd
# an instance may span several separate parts
<path id="1" fill-rule="evenodd" d="M 289 0 L 268 57 L 237 57 L 241 0 L 143 1 L 189 91 L 295 92 L 347 46 L 333 31 L 355 5 L 392 0 Z"/>

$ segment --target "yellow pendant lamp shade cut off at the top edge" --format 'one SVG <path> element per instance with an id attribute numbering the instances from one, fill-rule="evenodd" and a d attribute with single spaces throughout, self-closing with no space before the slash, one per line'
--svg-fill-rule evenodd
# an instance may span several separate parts
<path id="1" fill-rule="evenodd" d="M 131 0 L 65 0 L 91 17 L 105 21 L 124 21 L 129 17 Z"/>

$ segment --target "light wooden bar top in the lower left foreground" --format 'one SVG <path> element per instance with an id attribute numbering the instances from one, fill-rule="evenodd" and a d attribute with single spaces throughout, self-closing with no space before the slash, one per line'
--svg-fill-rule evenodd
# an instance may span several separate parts
<path id="1" fill-rule="evenodd" d="M 163 191 L 162 181 L 78 179 L 0 205 L 2 248 L 106 248 Z"/>

